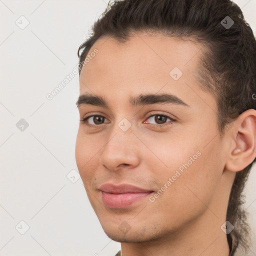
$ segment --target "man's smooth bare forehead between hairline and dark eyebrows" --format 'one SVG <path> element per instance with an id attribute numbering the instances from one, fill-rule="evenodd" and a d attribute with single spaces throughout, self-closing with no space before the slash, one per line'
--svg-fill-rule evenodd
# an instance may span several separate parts
<path id="1" fill-rule="evenodd" d="M 95 49 L 98 53 L 91 54 Z M 214 99 L 200 89 L 195 78 L 201 54 L 201 44 L 175 37 L 137 33 L 119 42 L 104 36 L 87 54 L 90 57 L 81 69 L 80 94 L 107 94 L 109 100 L 116 101 L 117 95 L 124 99 L 131 93 L 161 90 L 189 98 L 185 100 L 188 104 L 201 104 L 201 98 L 208 97 L 210 107 L 215 108 Z"/>

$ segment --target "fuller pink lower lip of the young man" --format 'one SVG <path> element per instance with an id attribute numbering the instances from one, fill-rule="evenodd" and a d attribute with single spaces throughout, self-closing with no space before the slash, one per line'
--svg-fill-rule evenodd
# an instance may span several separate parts
<path id="1" fill-rule="evenodd" d="M 109 208 L 125 208 L 134 202 L 147 197 L 151 192 L 146 193 L 121 193 L 112 194 L 101 191 L 102 200 Z"/>

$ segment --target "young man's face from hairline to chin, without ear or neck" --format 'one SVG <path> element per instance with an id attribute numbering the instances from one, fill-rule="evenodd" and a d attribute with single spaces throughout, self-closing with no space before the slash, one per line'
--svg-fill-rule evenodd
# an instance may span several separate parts
<path id="1" fill-rule="evenodd" d="M 88 53 L 93 57 L 82 67 L 80 95 L 105 104 L 79 101 L 80 119 L 88 118 L 80 121 L 75 157 L 91 206 L 115 241 L 181 231 L 215 207 L 225 147 L 215 99 L 195 79 L 200 48 L 140 33 L 125 43 L 102 37 Z M 100 190 L 104 183 L 153 192 L 132 203 L 133 197 L 110 195 L 109 204 Z"/>

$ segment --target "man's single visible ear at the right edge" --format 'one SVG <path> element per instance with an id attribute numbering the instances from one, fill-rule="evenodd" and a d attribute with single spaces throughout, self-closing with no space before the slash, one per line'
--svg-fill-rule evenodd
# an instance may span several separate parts
<path id="1" fill-rule="evenodd" d="M 234 121 L 230 132 L 230 147 L 225 168 L 239 171 L 256 157 L 256 110 L 248 109 Z"/>

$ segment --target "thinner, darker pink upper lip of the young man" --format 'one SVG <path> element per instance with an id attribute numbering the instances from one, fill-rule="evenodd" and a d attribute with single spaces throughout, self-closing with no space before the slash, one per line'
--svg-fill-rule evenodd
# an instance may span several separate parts
<path id="1" fill-rule="evenodd" d="M 148 193 L 152 192 L 150 189 L 143 189 L 134 185 L 130 184 L 119 184 L 114 185 L 111 183 L 105 183 L 99 187 L 99 189 L 106 193 L 113 193 L 113 194 L 119 194 L 119 193 Z"/>

